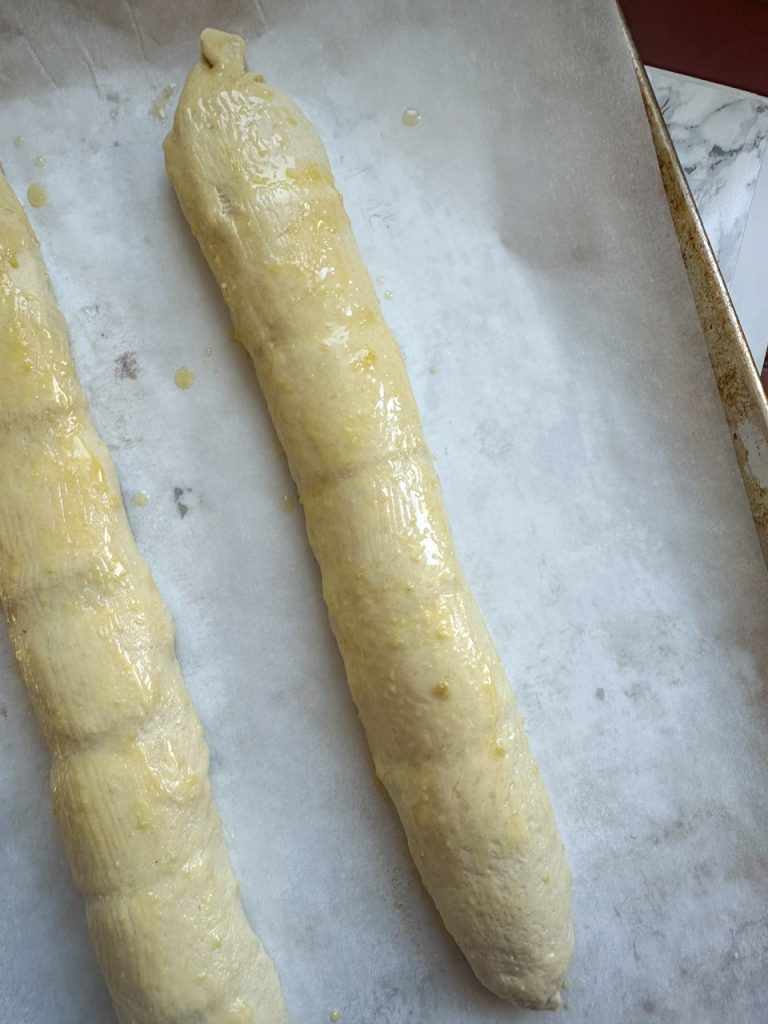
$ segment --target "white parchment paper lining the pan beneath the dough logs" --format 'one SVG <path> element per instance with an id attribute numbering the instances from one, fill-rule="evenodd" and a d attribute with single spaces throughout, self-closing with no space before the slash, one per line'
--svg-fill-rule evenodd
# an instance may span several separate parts
<path id="1" fill-rule="evenodd" d="M 609 0 L 0 0 L 1 159 L 22 197 L 47 185 L 32 220 L 293 1019 L 535 1015 L 474 981 L 374 785 L 284 461 L 165 179 L 168 87 L 208 24 L 316 123 L 383 279 L 568 847 L 561 1018 L 765 1020 L 768 581 Z M 0 1019 L 112 1024 L 4 634 L 0 763 Z"/>

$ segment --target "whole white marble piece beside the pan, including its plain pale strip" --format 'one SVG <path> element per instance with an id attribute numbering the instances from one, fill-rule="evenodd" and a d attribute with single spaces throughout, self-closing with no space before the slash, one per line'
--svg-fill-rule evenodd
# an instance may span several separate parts
<path id="1" fill-rule="evenodd" d="M 648 68 L 750 348 L 768 345 L 768 98 Z"/>

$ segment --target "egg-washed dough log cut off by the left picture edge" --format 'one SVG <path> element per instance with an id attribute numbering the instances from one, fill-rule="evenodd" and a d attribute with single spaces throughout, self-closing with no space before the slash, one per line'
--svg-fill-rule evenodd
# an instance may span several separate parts
<path id="1" fill-rule="evenodd" d="M 1 174 L 0 596 L 121 1024 L 286 1024 L 240 903 L 170 616 Z"/>

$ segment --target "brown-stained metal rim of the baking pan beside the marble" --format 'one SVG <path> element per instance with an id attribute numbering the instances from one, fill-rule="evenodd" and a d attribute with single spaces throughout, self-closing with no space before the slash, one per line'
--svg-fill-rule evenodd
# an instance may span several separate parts
<path id="1" fill-rule="evenodd" d="M 768 400 L 653 89 L 626 23 L 625 33 L 672 219 L 680 241 L 683 262 L 750 499 L 752 517 L 763 557 L 768 563 Z"/>

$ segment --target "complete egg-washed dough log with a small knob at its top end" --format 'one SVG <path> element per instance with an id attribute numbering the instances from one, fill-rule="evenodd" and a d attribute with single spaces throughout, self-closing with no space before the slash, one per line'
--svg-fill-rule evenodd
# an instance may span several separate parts
<path id="1" fill-rule="evenodd" d="M 554 1008 L 572 948 L 563 846 L 323 143 L 246 73 L 243 40 L 209 29 L 165 157 L 256 366 L 426 888 L 488 988 Z"/>

